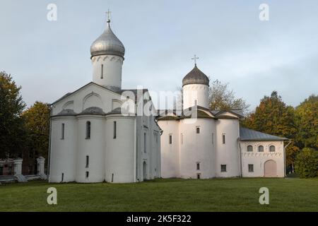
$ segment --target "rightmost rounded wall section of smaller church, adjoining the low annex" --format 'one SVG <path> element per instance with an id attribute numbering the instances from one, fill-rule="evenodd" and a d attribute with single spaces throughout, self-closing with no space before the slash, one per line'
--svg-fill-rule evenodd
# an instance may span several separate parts
<path id="1" fill-rule="evenodd" d="M 240 176 L 239 130 L 238 119 L 216 120 L 216 177 Z M 226 172 L 221 172 L 221 165 L 226 165 Z"/>

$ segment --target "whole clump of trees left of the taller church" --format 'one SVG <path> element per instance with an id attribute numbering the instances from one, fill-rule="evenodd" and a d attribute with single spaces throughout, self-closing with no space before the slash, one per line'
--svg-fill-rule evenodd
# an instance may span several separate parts
<path id="1" fill-rule="evenodd" d="M 47 159 L 49 105 L 35 102 L 25 108 L 20 89 L 10 74 L 0 72 L 0 159 L 22 157 L 22 153 Z"/>

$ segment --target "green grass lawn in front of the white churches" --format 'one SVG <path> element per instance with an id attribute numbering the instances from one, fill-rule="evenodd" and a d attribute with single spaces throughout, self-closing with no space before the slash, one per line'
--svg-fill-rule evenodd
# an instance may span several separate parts
<path id="1" fill-rule="evenodd" d="M 57 205 L 47 204 L 47 188 Z M 259 188 L 269 188 L 269 205 Z M 0 211 L 318 211 L 318 179 L 155 179 L 138 184 L 0 186 Z"/>

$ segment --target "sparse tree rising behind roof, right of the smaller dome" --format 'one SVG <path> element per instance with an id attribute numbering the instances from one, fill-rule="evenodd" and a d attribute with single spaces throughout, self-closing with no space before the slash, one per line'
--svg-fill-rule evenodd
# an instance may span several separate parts
<path id="1" fill-rule="evenodd" d="M 210 84 L 208 100 L 210 109 L 242 109 L 245 114 L 249 109 L 245 100 L 235 97 L 235 93 L 230 90 L 228 83 L 220 83 L 218 80 Z"/>

